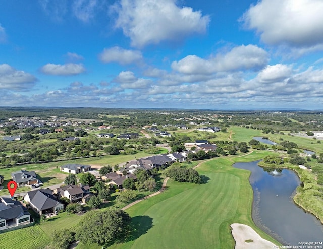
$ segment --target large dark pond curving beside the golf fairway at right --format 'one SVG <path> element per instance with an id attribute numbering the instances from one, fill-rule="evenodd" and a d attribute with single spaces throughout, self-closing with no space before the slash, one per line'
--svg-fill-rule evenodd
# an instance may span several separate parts
<path id="1" fill-rule="evenodd" d="M 300 180 L 288 169 L 263 169 L 259 161 L 235 163 L 235 168 L 251 171 L 252 218 L 255 224 L 285 245 L 323 242 L 323 225 L 312 214 L 298 207 L 293 196 Z"/>

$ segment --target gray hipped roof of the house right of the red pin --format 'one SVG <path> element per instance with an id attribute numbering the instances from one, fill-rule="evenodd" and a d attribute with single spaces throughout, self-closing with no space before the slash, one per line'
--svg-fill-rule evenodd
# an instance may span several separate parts
<path id="1" fill-rule="evenodd" d="M 27 195 L 29 195 L 30 203 L 32 203 L 38 210 L 46 210 L 60 204 L 50 189 L 29 191 L 27 192 Z"/>

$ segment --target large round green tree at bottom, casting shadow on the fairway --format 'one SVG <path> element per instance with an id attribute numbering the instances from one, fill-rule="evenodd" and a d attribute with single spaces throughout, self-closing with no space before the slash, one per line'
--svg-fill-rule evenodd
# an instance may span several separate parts
<path id="1" fill-rule="evenodd" d="M 103 245 L 122 237 L 130 224 L 130 216 L 123 210 L 89 211 L 77 225 L 75 238 L 82 243 Z"/>

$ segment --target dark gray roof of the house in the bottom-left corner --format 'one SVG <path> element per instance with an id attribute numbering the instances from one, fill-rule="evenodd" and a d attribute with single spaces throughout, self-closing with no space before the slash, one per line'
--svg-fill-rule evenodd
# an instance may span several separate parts
<path id="1" fill-rule="evenodd" d="M 29 215 L 29 212 L 20 202 L 10 198 L 2 198 L 0 201 L 0 219 L 10 220 L 25 214 Z"/>

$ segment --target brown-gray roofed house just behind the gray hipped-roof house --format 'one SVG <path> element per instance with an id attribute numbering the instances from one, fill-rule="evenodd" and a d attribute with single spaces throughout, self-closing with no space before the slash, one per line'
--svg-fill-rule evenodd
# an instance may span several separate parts
<path id="1" fill-rule="evenodd" d="M 90 194 L 90 187 L 88 185 L 83 186 L 82 184 L 67 185 L 54 190 L 54 193 L 57 194 L 58 197 L 68 198 L 71 203 L 81 202 L 84 196 Z"/>

